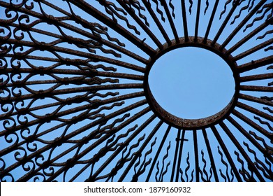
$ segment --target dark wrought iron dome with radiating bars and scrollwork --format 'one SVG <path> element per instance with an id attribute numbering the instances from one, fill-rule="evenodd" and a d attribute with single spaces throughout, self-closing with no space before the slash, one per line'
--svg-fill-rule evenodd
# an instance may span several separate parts
<path id="1" fill-rule="evenodd" d="M 268 0 L 0 1 L 1 181 L 272 181 L 272 13 Z M 233 71 L 233 98 L 207 118 L 165 111 L 149 87 L 154 62 L 189 46 Z"/>

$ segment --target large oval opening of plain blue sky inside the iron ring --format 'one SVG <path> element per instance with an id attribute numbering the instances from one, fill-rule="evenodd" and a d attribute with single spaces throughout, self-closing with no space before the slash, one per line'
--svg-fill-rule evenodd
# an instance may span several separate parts
<path id="1" fill-rule="evenodd" d="M 200 119 L 224 109 L 235 94 L 233 71 L 219 55 L 178 48 L 156 60 L 149 72 L 156 102 L 179 118 Z"/>

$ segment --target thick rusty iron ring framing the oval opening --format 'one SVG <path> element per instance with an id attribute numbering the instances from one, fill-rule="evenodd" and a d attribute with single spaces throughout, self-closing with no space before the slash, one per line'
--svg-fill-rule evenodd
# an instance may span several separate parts
<path id="1" fill-rule="evenodd" d="M 166 123 L 172 125 L 173 127 L 177 127 L 183 130 L 202 130 L 202 128 L 210 127 L 212 125 L 216 125 L 219 123 L 219 121 L 226 118 L 232 110 L 235 108 L 237 104 L 237 100 L 239 97 L 239 71 L 237 71 L 237 63 L 233 59 L 233 57 L 228 54 L 226 55 L 227 50 L 226 49 L 219 49 L 221 45 L 218 43 L 214 43 L 212 45 L 212 41 L 204 38 L 198 37 L 196 40 L 195 38 L 189 37 L 188 41 L 185 41 L 185 38 L 179 38 L 179 42 L 172 40 L 172 44 L 168 45 L 168 43 L 165 43 L 163 45 L 163 50 L 158 49 L 158 53 L 154 55 L 154 57 L 151 57 L 149 60 L 149 64 L 146 66 L 145 71 L 145 80 L 144 80 L 144 89 L 145 89 L 145 95 L 147 98 L 147 102 L 151 106 L 154 113 L 158 115 L 158 118 L 161 118 L 161 120 L 164 120 Z M 185 118 L 179 118 L 177 116 L 172 115 L 168 111 L 165 111 L 157 102 L 156 99 L 154 99 L 154 96 L 149 88 L 149 71 L 152 69 L 152 66 L 154 62 L 156 62 L 156 59 L 164 55 L 166 52 L 169 52 L 170 50 L 175 50 L 177 48 L 183 48 L 183 47 L 197 47 L 197 48 L 204 48 L 206 50 L 210 50 L 216 55 L 219 55 L 222 57 L 225 62 L 230 66 L 230 69 L 233 71 L 233 77 L 235 78 L 235 94 L 233 95 L 233 98 L 230 100 L 230 103 L 219 113 L 214 114 L 213 116 L 209 116 L 207 118 L 200 118 L 200 119 L 185 119 Z"/>

